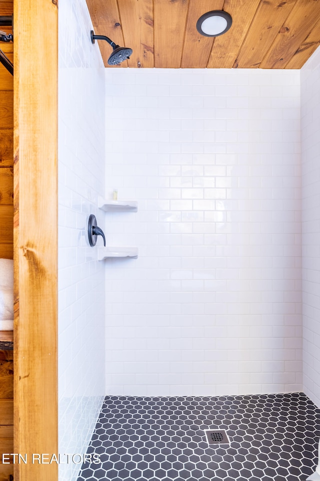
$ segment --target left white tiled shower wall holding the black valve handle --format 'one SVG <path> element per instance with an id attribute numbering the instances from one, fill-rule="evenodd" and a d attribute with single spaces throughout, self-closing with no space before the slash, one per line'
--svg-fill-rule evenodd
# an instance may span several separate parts
<path id="1" fill-rule="evenodd" d="M 84 0 L 59 5 L 59 453 L 85 453 L 104 395 L 104 266 L 88 247 L 89 213 L 103 227 L 104 67 Z M 76 457 L 76 462 L 78 458 Z M 75 481 L 80 464 L 59 464 Z"/>

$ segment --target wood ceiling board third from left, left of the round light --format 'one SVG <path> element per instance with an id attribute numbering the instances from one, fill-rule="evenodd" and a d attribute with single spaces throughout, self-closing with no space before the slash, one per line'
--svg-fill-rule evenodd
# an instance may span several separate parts
<path id="1" fill-rule="evenodd" d="M 154 0 L 154 67 L 180 67 L 188 3 L 188 0 Z"/>

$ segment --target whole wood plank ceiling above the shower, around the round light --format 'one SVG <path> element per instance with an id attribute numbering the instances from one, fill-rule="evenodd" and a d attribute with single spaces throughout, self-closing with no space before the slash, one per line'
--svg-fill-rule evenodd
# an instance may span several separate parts
<path id="1" fill-rule="evenodd" d="M 133 49 L 117 68 L 300 69 L 320 45 L 320 0 L 86 1 L 95 34 Z M 220 37 L 195 28 L 211 10 L 232 17 Z M 108 67 L 111 48 L 98 44 Z"/>

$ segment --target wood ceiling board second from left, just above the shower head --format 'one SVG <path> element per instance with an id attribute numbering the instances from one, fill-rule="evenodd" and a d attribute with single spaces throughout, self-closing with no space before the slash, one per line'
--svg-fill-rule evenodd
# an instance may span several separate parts
<path id="1" fill-rule="evenodd" d="M 154 67 L 153 58 L 153 2 L 126 0 L 119 2 L 124 45 L 133 50 L 127 61 L 129 67 Z"/>

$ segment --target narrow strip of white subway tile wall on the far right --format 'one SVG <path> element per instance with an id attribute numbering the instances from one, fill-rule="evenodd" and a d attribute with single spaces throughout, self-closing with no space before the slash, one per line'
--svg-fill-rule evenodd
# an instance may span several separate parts
<path id="1" fill-rule="evenodd" d="M 301 69 L 303 388 L 320 406 L 320 49 Z"/>

